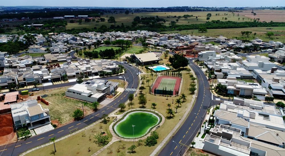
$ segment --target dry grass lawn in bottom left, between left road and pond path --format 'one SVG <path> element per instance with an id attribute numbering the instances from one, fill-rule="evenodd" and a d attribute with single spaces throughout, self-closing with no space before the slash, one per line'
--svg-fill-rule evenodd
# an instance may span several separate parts
<path id="1" fill-rule="evenodd" d="M 112 140 L 112 135 L 109 131 L 109 125 L 113 121 L 113 117 L 110 117 L 110 121 L 107 124 L 98 123 L 93 127 L 84 130 L 78 134 L 70 136 L 64 140 L 55 143 L 56 153 L 54 155 L 92 155 L 100 148 L 97 144 L 94 143 L 95 139 L 93 138 L 94 134 L 105 132 L 109 136 L 109 140 Z M 100 125 L 102 129 L 100 129 Z M 90 147 L 90 152 L 88 152 L 88 147 Z M 27 156 L 46 156 L 52 155 L 54 151 L 54 145 L 42 147 L 38 150 L 32 151 L 27 154 Z"/>

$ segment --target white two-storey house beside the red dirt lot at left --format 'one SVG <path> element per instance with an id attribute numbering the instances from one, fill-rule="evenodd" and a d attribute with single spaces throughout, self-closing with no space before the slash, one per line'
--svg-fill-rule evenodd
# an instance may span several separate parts
<path id="1" fill-rule="evenodd" d="M 16 127 L 28 126 L 29 129 L 50 123 L 48 109 L 43 109 L 36 100 L 11 104 L 11 113 Z"/>

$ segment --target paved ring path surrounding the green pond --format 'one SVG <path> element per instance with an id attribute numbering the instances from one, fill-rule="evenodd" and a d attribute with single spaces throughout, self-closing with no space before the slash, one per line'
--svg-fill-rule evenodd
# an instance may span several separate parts
<path id="1" fill-rule="evenodd" d="M 158 125 L 156 125 L 155 127 L 157 127 L 157 126 L 162 126 L 162 124 L 164 123 L 164 121 L 165 121 L 165 118 L 164 118 L 164 116 L 161 114 L 161 113 L 159 113 L 158 111 L 155 111 L 155 110 L 153 110 L 153 109 L 142 109 L 142 108 L 136 108 L 136 109 L 130 109 L 130 110 L 128 110 L 128 111 L 125 111 L 123 114 L 120 114 L 120 115 L 112 115 L 112 116 L 116 116 L 117 117 L 117 119 L 119 120 L 121 117 L 123 117 L 126 113 L 128 113 L 128 112 L 130 112 L 130 111 L 133 111 L 133 110 L 137 110 L 137 111 L 140 111 L 140 110 L 148 110 L 148 111 L 153 111 L 153 112 L 155 112 L 155 113 L 157 113 L 158 115 L 160 115 L 161 116 L 161 122 L 158 124 Z M 110 115 L 111 116 L 111 115 Z M 150 132 L 148 133 L 148 134 L 146 134 L 145 136 L 143 136 L 143 137 L 141 137 L 141 138 L 135 138 L 135 139 L 126 139 L 126 138 L 122 138 L 122 137 L 120 137 L 120 136 L 117 136 L 117 134 L 115 134 L 115 132 L 113 131 L 113 125 L 116 123 L 116 121 L 115 122 L 113 122 L 113 123 L 111 123 L 111 125 L 109 126 L 109 130 L 110 130 L 110 132 L 111 132 L 111 134 L 113 135 L 113 137 L 114 138 L 116 138 L 116 139 L 118 139 L 118 140 L 123 140 L 123 141 L 138 141 L 139 139 L 146 139 L 146 137 L 148 137 L 148 136 L 150 136 L 150 132 L 152 132 L 152 131 L 154 131 L 154 130 L 156 130 L 156 128 L 154 127 L 154 128 L 152 128 L 152 130 L 150 130 Z"/>

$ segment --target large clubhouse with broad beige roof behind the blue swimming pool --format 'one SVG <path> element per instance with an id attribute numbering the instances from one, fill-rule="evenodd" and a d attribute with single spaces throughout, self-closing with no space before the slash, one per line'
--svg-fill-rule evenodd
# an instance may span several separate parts
<path id="1" fill-rule="evenodd" d="M 154 53 L 148 52 L 144 54 L 133 54 L 131 57 L 135 58 L 139 64 L 148 65 L 148 64 L 157 64 L 161 59 Z"/>

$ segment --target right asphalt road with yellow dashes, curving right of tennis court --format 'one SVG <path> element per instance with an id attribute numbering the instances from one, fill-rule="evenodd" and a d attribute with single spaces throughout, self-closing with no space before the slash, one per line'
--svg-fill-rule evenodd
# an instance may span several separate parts
<path id="1" fill-rule="evenodd" d="M 191 60 L 192 59 L 189 59 L 189 64 L 197 75 L 199 84 L 196 102 L 186 121 L 179 128 L 176 134 L 170 139 L 166 146 L 164 146 L 164 148 L 160 151 L 160 153 L 158 154 L 159 156 L 179 155 L 180 147 L 178 147 L 177 144 L 179 144 L 179 146 L 182 145 L 181 151 L 183 155 L 183 153 L 185 153 L 187 149 L 187 146 L 190 145 L 194 137 L 196 137 L 196 133 L 200 130 L 201 117 L 205 117 L 205 112 L 207 111 L 208 107 L 213 106 L 213 104 L 220 103 L 220 101 L 216 101 L 215 98 L 211 102 L 212 94 L 209 90 L 210 86 L 207 77 L 205 76 L 203 71 L 198 68 L 198 66 L 195 65 Z M 187 146 L 184 146 L 183 144 Z"/>

